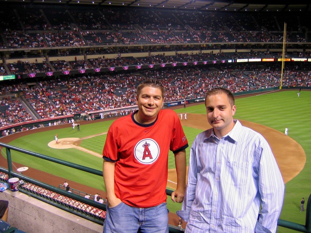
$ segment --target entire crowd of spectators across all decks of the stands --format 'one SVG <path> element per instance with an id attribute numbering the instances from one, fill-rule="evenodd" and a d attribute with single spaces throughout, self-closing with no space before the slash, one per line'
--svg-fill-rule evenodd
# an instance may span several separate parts
<path id="1" fill-rule="evenodd" d="M 39 10 L 39 9 L 38 9 Z M 87 54 L 118 53 L 116 58 L 98 57 L 85 60 L 66 62 L 65 60 L 41 62 L 0 63 L 0 75 L 28 74 L 48 71 L 81 70 L 100 67 L 117 67 L 142 64 L 161 64 L 193 61 L 215 61 L 240 58 L 281 58 L 281 53 L 250 51 L 245 53 L 191 53 L 182 54 L 186 43 L 281 43 L 283 32 L 279 25 L 283 18 L 279 15 L 269 16 L 261 13 L 260 20 L 256 15 L 237 14 L 234 12 L 197 13 L 194 11 L 129 11 L 126 9 L 104 9 L 92 11 L 80 9 L 47 9 L 35 14 L 37 9 L 19 9 L 13 12 L 12 23 L 4 22 L 0 48 L 43 48 L 43 47 L 73 47 L 91 45 Z M 292 13 L 294 14 L 294 13 Z M 15 17 L 16 15 L 16 17 Z M 299 16 L 291 17 L 293 21 Z M 71 25 L 75 22 L 77 25 Z M 13 25 L 14 23 L 14 25 Z M 16 30 L 16 24 L 21 30 Z M 14 26 L 14 27 L 13 27 Z M 304 26 L 304 25 L 301 25 Z M 74 28 L 73 28 L 74 27 Z M 12 30 L 11 30 L 12 28 Z M 273 28 L 273 30 L 271 30 Z M 52 31 L 53 29 L 53 31 Z M 34 32 L 36 31 L 36 32 Z M 310 41 L 308 34 L 288 32 L 287 41 Z M 2 41 L 3 40 L 3 41 Z M 144 46 L 120 48 L 95 48 L 95 45 L 121 43 L 133 45 L 153 43 L 149 51 L 158 51 L 158 45 L 178 43 L 174 46 L 174 56 L 165 56 L 161 51 L 148 57 L 122 57 L 121 53 L 146 52 Z M 292 46 L 292 45 L 289 45 Z M 93 48 L 94 47 L 94 48 Z M 187 49 L 195 48 L 193 45 Z M 198 47 L 196 47 L 198 48 Z M 206 49 L 207 47 L 205 47 Z M 210 45 L 208 48 L 215 48 Z M 235 47 L 237 48 L 237 47 Z M 163 49 L 171 51 L 169 46 Z M 53 49 L 56 51 L 56 49 Z M 118 51 L 116 51 L 118 50 Z M 131 50 L 131 51 L 130 51 Z M 194 50 L 194 49 L 193 49 Z M 197 50 L 197 49 L 196 49 Z M 55 51 L 48 51 L 54 53 Z M 191 50 L 190 50 L 191 51 Z M 166 52 L 166 51 L 165 51 Z M 62 49 L 55 55 L 70 55 L 69 50 Z M 60 54 L 59 54 L 60 53 Z M 297 57 L 311 57 L 311 53 L 291 52 Z M 268 64 L 268 63 L 267 63 Z M 242 92 L 254 89 L 280 86 L 280 64 L 266 66 L 222 64 L 211 66 L 174 67 L 140 71 L 132 74 L 130 71 L 112 74 L 76 75 L 74 77 L 49 77 L 35 80 L 35 86 L 26 85 L 23 80 L 15 83 L 3 83 L 0 87 L 1 126 L 29 121 L 32 114 L 27 112 L 23 104 L 33 108 L 33 115 L 39 118 L 67 116 L 96 110 L 114 109 L 135 105 L 135 90 L 137 84 L 146 78 L 160 79 L 167 90 L 166 102 L 203 97 L 207 89 L 225 87 L 232 92 Z M 286 66 L 283 73 L 284 86 L 310 86 L 310 68 L 305 63 L 295 63 Z M 10 99 L 8 94 L 22 94 L 26 98 L 23 103 L 20 98 Z M 122 114 L 122 112 L 116 113 Z M 124 114 L 124 112 L 123 112 Z M 111 116 L 111 115 L 109 115 Z M 58 124 L 55 121 L 54 124 Z M 60 121 L 60 123 L 62 123 Z M 10 131 L 11 132 L 11 131 Z M 8 132 L 7 132 L 8 133 Z"/>

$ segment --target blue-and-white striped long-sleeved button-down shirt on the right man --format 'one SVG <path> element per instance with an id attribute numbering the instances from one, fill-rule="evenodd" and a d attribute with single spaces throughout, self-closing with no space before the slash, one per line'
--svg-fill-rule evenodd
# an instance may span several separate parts
<path id="1" fill-rule="evenodd" d="M 186 194 L 177 211 L 188 222 L 187 233 L 276 231 L 284 197 L 279 167 L 263 136 L 234 122 L 221 139 L 209 129 L 193 141 Z"/>

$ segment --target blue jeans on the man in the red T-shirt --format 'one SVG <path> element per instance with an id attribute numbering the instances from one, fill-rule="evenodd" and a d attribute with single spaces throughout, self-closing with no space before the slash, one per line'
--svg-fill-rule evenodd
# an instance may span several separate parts
<path id="1" fill-rule="evenodd" d="M 137 208 L 123 202 L 107 207 L 104 233 L 168 233 L 166 203 L 150 208 Z"/>

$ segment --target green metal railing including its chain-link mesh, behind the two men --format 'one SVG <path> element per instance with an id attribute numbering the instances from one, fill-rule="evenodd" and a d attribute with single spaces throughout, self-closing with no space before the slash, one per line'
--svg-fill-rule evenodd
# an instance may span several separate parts
<path id="1" fill-rule="evenodd" d="M 19 191 L 30 195 L 36 199 L 49 203 L 55 207 L 61 208 L 67 212 L 76 214 L 77 216 L 86 218 L 92 222 L 103 225 L 104 219 L 106 216 L 106 206 L 104 204 L 95 202 L 91 199 L 86 199 L 82 197 L 78 192 L 68 192 L 62 188 L 54 187 L 52 185 L 43 183 L 39 180 L 32 179 L 28 176 L 24 176 L 18 172 L 12 170 L 12 157 L 11 150 L 15 150 L 21 153 L 25 153 L 37 158 L 62 164 L 67 167 L 72 167 L 74 169 L 79 169 L 87 173 L 95 174 L 97 176 L 103 176 L 103 172 L 92 169 L 89 167 L 81 166 L 79 164 L 67 162 L 61 159 L 53 158 L 47 155 L 39 154 L 32 152 L 30 150 L 18 148 L 6 143 L 0 142 L 0 147 L 6 148 L 7 155 L 7 165 L 8 169 L 0 167 L 0 180 L 7 182 L 9 178 L 17 177 L 21 180 Z M 166 190 L 166 194 L 171 196 L 172 190 Z M 278 226 L 289 228 L 295 231 L 311 233 L 311 194 L 309 196 L 307 205 L 306 205 L 306 221 L 305 225 L 298 224 L 295 222 L 290 222 L 282 219 L 278 219 Z M 183 232 L 184 229 L 181 229 L 176 226 L 169 225 L 169 232 Z"/>

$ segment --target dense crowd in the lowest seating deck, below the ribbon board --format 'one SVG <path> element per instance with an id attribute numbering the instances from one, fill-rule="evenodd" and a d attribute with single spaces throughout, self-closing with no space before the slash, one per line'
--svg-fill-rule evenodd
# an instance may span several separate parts
<path id="1" fill-rule="evenodd" d="M 4 85 L 1 94 L 22 93 L 26 102 L 42 119 L 77 113 L 107 110 L 135 105 L 137 85 L 147 78 L 160 79 L 166 89 L 165 102 L 202 98 L 207 89 L 224 87 L 233 93 L 278 87 L 280 65 L 263 67 L 255 64 L 223 64 L 171 67 L 117 74 L 92 74 L 78 77 L 58 77 L 38 81 L 34 87 L 20 82 Z M 311 86 L 311 71 L 304 63 L 296 63 L 283 72 L 283 86 Z M 19 98 L 2 98 L 1 124 L 31 120 Z M 121 113 L 120 113 L 121 114 Z"/>

